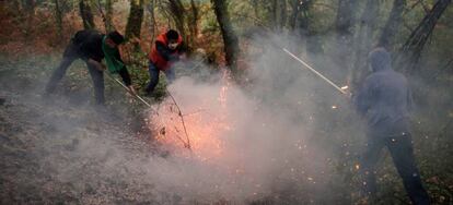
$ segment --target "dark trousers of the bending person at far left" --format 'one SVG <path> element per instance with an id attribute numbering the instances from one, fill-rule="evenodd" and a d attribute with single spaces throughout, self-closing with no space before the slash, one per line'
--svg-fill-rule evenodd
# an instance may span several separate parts
<path id="1" fill-rule="evenodd" d="M 91 79 L 93 80 L 93 87 L 94 87 L 94 96 L 96 99 L 96 104 L 104 104 L 104 73 L 96 69 L 96 65 L 89 63 L 86 59 L 81 57 L 78 53 L 77 47 L 73 45 L 69 45 L 63 55 L 63 59 L 61 60 L 58 68 L 54 71 L 53 75 L 50 76 L 49 82 L 46 86 L 46 93 L 53 93 L 55 88 L 58 86 L 58 83 L 65 76 L 66 71 L 71 65 L 71 63 L 81 58 L 86 62 L 86 67 L 89 69 Z"/>

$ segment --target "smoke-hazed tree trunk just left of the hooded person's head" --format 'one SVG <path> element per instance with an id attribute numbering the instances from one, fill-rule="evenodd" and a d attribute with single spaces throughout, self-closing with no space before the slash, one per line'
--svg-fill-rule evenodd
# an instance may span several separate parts
<path id="1" fill-rule="evenodd" d="M 379 7 L 380 1 L 368 0 L 363 13 L 360 16 L 358 36 L 353 47 L 353 65 L 349 68 L 347 80 L 352 89 L 357 87 L 357 85 L 360 85 L 363 79 L 368 53 L 373 45 L 373 32 L 376 28 Z"/>

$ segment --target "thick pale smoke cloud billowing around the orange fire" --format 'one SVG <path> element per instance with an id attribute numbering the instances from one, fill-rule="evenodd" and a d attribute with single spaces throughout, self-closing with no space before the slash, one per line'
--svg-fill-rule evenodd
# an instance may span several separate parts
<path id="1" fill-rule="evenodd" d="M 182 109 L 191 152 L 184 147 L 184 126 L 167 98 L 155 108 L 160 116 L 150 117 L 156 140 L 172 153 L 146 165 L 158 189 L 206 203 L 278 202 L 281 195 L 310 202 L 328 190 L 333 153 L 316 144 L 314 130 L 322 119 L 316 109 L 330 110 L 333 104 L 315 100 L 337 94 L 276 47 L 264 46 L 251 67 L 253 83 L 246 88 L 225 73 L 205 81 L 184 76 L 169 87 Z"/>

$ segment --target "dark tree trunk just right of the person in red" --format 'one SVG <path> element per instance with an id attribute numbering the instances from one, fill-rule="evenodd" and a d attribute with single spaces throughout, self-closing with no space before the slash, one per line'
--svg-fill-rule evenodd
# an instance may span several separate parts
<path id="1" fill-rule="evenodd" d="M 226 65 L 233 75 L 237 76 L 239 39 L 230 22 L 226 2 L 224 0 L 211 0 L 211 3 L 223 37 Z"/>

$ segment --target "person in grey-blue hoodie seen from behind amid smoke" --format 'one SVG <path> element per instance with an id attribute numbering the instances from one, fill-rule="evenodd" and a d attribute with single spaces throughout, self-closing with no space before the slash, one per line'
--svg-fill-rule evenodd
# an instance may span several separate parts
<path id="1" fill-rule="evenodd" d="M 367 150 L 361 161 L 364 193 L 375 194 L 376 162 L 381 150 L 387 147 L 413 203 L 429 204 L 414 157 L 409 132 L 413 99 L 407 80 L 392 70 L 391 56 L 384 48 L 371 51 L 369 60 L 373 73 L 355 97 L 358 112 L 368 120 Z"/>

